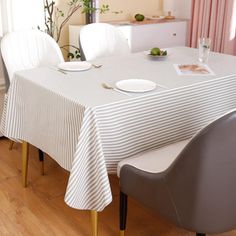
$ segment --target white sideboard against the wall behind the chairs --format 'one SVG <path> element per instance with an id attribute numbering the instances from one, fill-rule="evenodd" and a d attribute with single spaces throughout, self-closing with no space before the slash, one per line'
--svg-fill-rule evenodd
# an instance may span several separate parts
<path id="1" fill-rule="evenodd" d="M 185 46 L 187 42 L 187 20 L 171 20 L 159 22 L 113 23 L 125 35 L 131 52 L 148 50 L 153 47 L 167 48 Z M 69 26 L 69 43 L 78 47 L 81 25 Z M 73 48 L 71 48 L 73 52 Z"/>

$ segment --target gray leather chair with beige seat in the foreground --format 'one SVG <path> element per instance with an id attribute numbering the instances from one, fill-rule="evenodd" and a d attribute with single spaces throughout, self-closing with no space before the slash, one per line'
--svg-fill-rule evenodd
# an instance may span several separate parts
<path id="1" fill-rule="evenodd" d="M 127 196 L 198 236 L 236 228 L 236 111 L 191 140 L 119 163 L 120 235 Z"/>

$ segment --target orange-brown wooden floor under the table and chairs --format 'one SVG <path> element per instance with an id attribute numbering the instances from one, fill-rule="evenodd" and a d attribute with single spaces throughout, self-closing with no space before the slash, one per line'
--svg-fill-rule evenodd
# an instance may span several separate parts
<path id="1" fill-rule="evenodd" d="M 64 194 L 68 173 L 51 158 L 40 175 L 37 150 L 30 147 L 29 185 L 21 185 L 21 146 L 8 150 L 9 141 L 0 139 L 0 235 L 90 236 L 90 213 L 68 207 Z M 118 179 L 110 176 L 113 202 L 99 213 L 99 236 L 119 235 Z M 176 228 L 134 201 L 129 202 L 126 236 L 193 236 Z M 236 231 L 221 234 L 236 236 Z"/>

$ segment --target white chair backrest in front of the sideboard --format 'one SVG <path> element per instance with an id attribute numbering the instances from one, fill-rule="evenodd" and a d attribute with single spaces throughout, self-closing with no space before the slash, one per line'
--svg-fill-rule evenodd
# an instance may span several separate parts
<path id="1" fill-rule="evenodd" d="M 130 53 L 128 41 L 122 32 L 106 23 L 83 26 L 79 41 L 86 60 Z"/>

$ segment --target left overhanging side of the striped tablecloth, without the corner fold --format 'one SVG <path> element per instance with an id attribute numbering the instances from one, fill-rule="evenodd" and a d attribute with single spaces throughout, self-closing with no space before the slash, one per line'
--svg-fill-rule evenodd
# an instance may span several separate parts
<path id="1" fill-rule="evenodd" d="M 70 170 L 84 110 L 78 102 L 19 77 L 9 88 L 2 131 L 13 140 L 27 140 Z"/>

